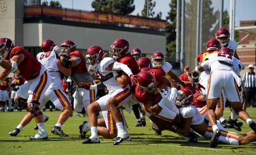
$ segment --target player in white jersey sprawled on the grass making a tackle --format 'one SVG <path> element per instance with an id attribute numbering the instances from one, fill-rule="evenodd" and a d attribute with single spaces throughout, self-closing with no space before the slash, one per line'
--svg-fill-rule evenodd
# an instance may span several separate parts
<path id="1" fill-rule="evenodd" d="M 180 116 L 183 120 L 183 126 L 176 127 L 173 125 L 172 127 L 184 136 L 188 136 L 190 128 L 192 128 L 194 131 L 198 132 L 205 138 L 211 139 L 213 137 L 211 124 L 208 123 L 203 116 L 201 116 L 196 107 L 191 105 L 192 102 L 192 91 L 188 89 L 181 89 L 177 91 L 177 99 L 175 104 L 179 108 Z M 244 135 L 239 135 L 235 132 L 225 130 L 219 121 L 217 121 L 217 125 L 221 132 L 221 135 L 218 138 L 219 142 L 232 145 L 244 145 L 249 142 L 256 141 L 256 133 L 253 130 L 247 132 Z"/>

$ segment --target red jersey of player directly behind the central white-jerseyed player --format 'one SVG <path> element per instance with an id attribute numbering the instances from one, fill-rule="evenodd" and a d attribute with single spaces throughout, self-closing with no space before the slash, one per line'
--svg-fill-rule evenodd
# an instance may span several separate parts
<path id="1" fill-rule="evenodd" d="M 116 59 L 116 61 L 127 65 L 131 69 L 133 74 L 137 74 L 140 72 L 140 68 L 136 59 L 130 53 L 125 54 L 119 59 Z"/>

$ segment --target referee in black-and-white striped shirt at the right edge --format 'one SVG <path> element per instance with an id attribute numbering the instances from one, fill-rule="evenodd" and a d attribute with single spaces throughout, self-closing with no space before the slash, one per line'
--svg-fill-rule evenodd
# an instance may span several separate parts
<path id="1" fill-rule="evenodd" d="M 242 81 L 244 82 L 245 87 L 245 100 L 243 104 L 244 111 L 246 110 L 247 103 L 250 102 L 251 99 L 255 101 L 255 93 L 256 93 L 256 74 L 253 71 L 254 65 L 248 65 L 249 71 L 244 73 Z"/>

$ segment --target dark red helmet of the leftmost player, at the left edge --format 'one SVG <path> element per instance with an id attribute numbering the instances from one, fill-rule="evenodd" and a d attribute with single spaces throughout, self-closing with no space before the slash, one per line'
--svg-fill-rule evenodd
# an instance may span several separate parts
<path id="1" fill-rule="evenodd" d="M 9 51 L 14 47 L 14 42 L 9 38 L 0 38 L 0 57 L 6 57 Z"/>

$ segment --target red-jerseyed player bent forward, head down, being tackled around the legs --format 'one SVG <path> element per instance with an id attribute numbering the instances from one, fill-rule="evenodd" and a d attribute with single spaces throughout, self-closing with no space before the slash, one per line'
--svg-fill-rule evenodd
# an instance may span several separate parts
<path id="1" fill-rule="evenodd" d="M 163 83 L 170 85 L 170 81 L 167 79 L 164 81 L 163 76 L 154 71 L 151 72 L 154 76 L 150 73 L 150 70 L 148 72 L 141 71 L 137 74 L 135 97 L 143 103 L 148 118 L 156 116 L 169 122 L 179 122 L 179 112 L 174 103 L 172 103 L 176 98 L 177 92 L 175 83 L 171 82 L 172 88 L 162 85 Z"/>

